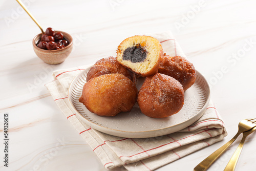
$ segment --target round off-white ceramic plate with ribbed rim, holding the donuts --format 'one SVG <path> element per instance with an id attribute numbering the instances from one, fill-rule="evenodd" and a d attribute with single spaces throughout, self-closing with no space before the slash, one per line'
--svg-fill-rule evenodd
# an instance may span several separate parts
<path id="1" fill-rule="evenodd" d="M 148 138 L 174 133 L 197 121 L 205 112 L 210 99 L 210 89 L 205 78 L 197 72 L 196 82 L 185 92 L 181 111 L 167 118 L 150 118 L 141 113 L 136 103 L 130 112 L 114 117 L 103 117 L 91 113 L 78 101 L 90 67 L 78 74 L 72 81 L 68 98 L 77 111 L 80 120 L 100 132 L 127 138 Z M 141 87 L 144 78 L 138 80 Z"/>

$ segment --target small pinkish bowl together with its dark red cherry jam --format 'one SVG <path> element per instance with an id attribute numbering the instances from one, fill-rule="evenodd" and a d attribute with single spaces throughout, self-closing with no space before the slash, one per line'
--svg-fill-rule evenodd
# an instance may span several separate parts
<path id="1" fill-rule="evenodd" d="M 47 33 L 47 31 L 46 31 Z M 55 33 L 61 33 L 55 36 Z M 55 41 L 52 41 L 55 37 Z M 54 31 L 54 36 L 42 36 L 42 33 L 37 34 L 33 39 L 33 49 L 35 54 L 44 62 L 50 65 L 56 65 L 65 61 L 73 49 L 73 38 L 70 34 L 63 31 Z M 62 38 L 61 42 L 59 40 Z M 45 40 L 46 41 L 43 41 Z M 56 44 L 56 45 L 55 45 Z M 60 45 L 60 46 L 59 46 Z"/>

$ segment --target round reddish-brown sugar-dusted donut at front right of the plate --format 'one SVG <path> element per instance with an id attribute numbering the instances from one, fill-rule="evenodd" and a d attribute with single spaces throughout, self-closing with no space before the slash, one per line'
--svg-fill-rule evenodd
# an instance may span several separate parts
<path id="1" fill-rule="evenodd" d="M 146 77 L 137 102 L 140 110 L 152 118 L 165 118 L 178 113 L 184 104 L 182 85 L 168 75 L 157 73 Z"/>

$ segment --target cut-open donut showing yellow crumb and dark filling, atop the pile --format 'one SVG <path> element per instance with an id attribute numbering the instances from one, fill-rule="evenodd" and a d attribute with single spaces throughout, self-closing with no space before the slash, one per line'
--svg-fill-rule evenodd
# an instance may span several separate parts
<path id="1" fill-rule="evenodd" d="M 126 38 L 117 48 L 117 61 L 144 77 L 157 73 L 162 56 L 160 42 L 150 36 Z"/>

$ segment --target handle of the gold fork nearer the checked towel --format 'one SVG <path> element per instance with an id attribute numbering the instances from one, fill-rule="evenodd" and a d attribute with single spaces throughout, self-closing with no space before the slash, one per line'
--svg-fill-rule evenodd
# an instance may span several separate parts
<path id="1" fill-rule="evenodd" d="M 212 163 L 214 163 L 225 151 L 226 149 L 237 139 L 237 137 L 241 134 L 238 132 L 231 140 L 229 140 L 226 144 L 222 145 L 217 151 L 212 153 L 206 159 L 204 159 L 201 163 L 199 163 L 195 168 L 194 171 L 205 171 L 207 168 L 210 167 Z"/>

